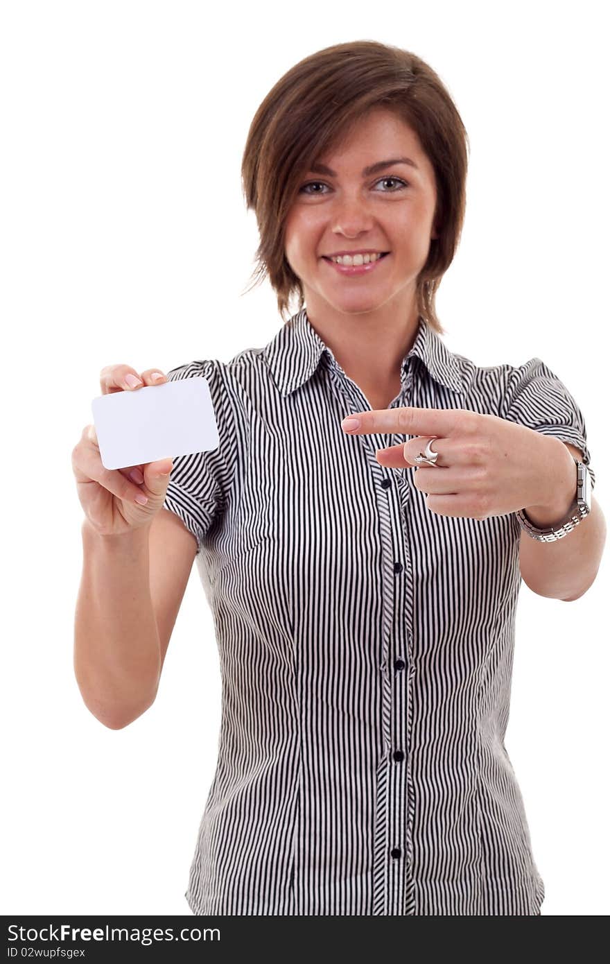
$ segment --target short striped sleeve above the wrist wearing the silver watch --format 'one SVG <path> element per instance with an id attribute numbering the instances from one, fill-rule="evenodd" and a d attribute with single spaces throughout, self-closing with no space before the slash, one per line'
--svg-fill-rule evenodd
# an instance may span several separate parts
<path id="1" fill-rule="evenodd" d="M 596 475 L 590 465 L 585 419 L 568 388 L 541 359 L 511 367 L 502 417 L 579 448 L 591 472 L 593 491 Z"/>

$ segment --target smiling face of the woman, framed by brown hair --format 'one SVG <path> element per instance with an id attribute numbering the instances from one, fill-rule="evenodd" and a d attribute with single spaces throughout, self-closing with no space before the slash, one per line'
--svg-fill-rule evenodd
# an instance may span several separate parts
<path id="1" fill-rule="evenodd" d="M 407 157 L 413 162 L 397 162 Z M 383 161 L 394 163 L 370 173 Z M 322 171 L 321 165 L 329 170 Z M 329 173 L 332 171 L 332 174 Z M 302 178 L 286 222 L 285 254 L 307 308 L 374 311 L 390 300 L 411 311 L 415 281 L 436 237 L 434 168 L 404 120 L 376 108 Z M 363 274 L 343 274 L 329 255 L 389 252 Z"/>

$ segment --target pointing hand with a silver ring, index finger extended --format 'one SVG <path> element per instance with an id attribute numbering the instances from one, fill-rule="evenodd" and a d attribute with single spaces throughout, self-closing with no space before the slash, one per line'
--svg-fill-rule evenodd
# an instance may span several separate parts
<path id="1" fill-rule="evenodd" d="M 413 484 L 439 516 L 484 520 L 557 501 L 558 486 L 570 478 L 571 455 L 563 442 L 499 418 L 466 409 L 382 409 L 359 418 L 346 435 L 400 433 L 418 438 L 377 451 L 390 469 L 417 469 Z M 345 421 L 346 419 L 344 419 Z M 341 423 L 343 427 L 343 422 Z M 413 459 L 429 439 L 438 452 L 435 466 Z"/>

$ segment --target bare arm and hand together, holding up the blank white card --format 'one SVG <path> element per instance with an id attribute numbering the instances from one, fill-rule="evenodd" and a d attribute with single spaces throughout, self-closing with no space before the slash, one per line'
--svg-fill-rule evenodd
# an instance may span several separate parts
<path id="1" fill-rule="evenodd" d="M 140 376 L 116 364 L 102 368 L 99 384 L 109 394 L 165 379 L 157 369 Z M 72 450 L 72 469 L 86 516 L 74 674 L 88 709 L 119 730 L 154 702 L 197 539 L 164 506 L 172 460 L 106 469 L 88 425 Z"/>

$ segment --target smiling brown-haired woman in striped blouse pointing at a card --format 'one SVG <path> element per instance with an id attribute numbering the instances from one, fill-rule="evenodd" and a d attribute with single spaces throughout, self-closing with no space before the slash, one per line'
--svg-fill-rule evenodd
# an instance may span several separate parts
<path id="1" fill-rule="evenodd" d="M 603 517 L 530 537 L 579 516 L 580 410 L 540 359 L 481 368 L 440 337 L 465 176 L 462 121 L 421 60 L 373 41 L 307 57 L 243 158 L 259 278 L 299 310 L 265 348 L 167 376 L 208 380 L 219 447 L 133 485 L 101 467 L 93 426 L 75 450 L 75 667 L 95 715 L 119 728 L 154 700 L 194 558 L 214 615 L 196 914 L 540 913 L 503 742 L 517 595 L 521 577 L 586 591 Z M 125 375 L 104 369 L 102 390 Z"/>

